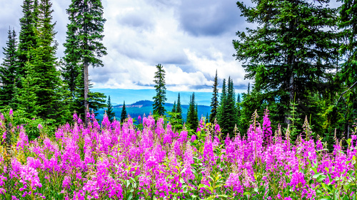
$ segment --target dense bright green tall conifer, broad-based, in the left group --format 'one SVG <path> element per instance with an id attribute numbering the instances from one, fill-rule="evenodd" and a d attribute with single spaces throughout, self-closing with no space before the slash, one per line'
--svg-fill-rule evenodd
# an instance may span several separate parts
<path id="1" fill-rule="evenodd" d="M 61 93 L 63 84 L 59 78 L 60 73 L 56 70 L 56 23 L 51 23 L 51 6 L 49 0 L 34 1 L 36 46 L 27 51 L 28 60 L 24 66 L 24 75 L 21 77 L 21 89 L 18 90 L 16 97 L 19 108 L 26 109 L 29 117 L 36 115 L 58 121 L 69 115 L 69 110 L 64 107 L 64 95 Z M 29 94 L 33 95 L 31 103 L 26 102 Z"/>

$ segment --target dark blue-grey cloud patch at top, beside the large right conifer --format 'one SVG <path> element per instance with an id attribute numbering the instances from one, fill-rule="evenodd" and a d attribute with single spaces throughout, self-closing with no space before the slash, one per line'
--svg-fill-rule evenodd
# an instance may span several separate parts
<path id="1" fill-rule="evenodd" d="M 182 0 L 178 17 L 182 28 L 194 36 L 218 36 L 243 21 L 235 0 Z"/>

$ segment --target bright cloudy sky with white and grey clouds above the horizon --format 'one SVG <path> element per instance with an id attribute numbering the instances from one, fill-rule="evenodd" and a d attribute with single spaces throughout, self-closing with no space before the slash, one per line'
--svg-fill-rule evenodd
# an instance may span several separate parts
<path id="1" fill-rule="evenodd" d="M 246 0 L 247 1 L 247 0 Z M 64 56 L 66 9 L 70 0 L 54 0 L 57 56 Z M 173 91 L 212 91 L 231 76 L 236 92 L 251 80 L 232 56 L 236 31 L 251 24 L 240 16 L 236 0 L 102 0 L 104 6 L 104 68 L 89 70 L 94 88 L 154 88 L 155 65 L 166 70 L 166 88 Z M 0 46 L 9 26 L 20 30 L 22 0 L 0 1 Z M 2 60 L 2 51 L 0 53 Z"/>

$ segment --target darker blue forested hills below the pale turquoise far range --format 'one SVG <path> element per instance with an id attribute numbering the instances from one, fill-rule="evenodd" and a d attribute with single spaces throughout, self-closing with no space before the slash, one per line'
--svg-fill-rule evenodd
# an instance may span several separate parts
<path id="1" fill-rule="evenodd" d="M 196 93 L 195 93 L 196 94 Z M 143 117 L 145 114 L 148 116 L 150 113 L 153 111 L 153 101 L 150 100 L 139 100 L 138 102 L 134 102 L 133 104 L 125 104 L 126 108 L 126 113 L 130 115 L 134 119 L 138 119 L 139 115 Z M 174 107 L 173 103 L 165 103 L 164 105 L 166 111 L 171 111 L 172 107 Z M 187 117 L 187 110 L 188 110 L 188 105 L 181 105 L 182 107 L 182 116 L 183 119 L 186 120 Z M 121 116 L 121 110 L 123 109 L 123 105 L 114 105 L 113 110 L 115 112 L 116 119 L 120 119 Z M 97 119 L 102 120 L 104 117 L 104 110 L 106 109 L 101 109 L 98 112 Z M 209 115 L 211 112 L 211 107 L 207 105 L 198 105 L 198 117 L 206 117 L 206 115 Z"/>

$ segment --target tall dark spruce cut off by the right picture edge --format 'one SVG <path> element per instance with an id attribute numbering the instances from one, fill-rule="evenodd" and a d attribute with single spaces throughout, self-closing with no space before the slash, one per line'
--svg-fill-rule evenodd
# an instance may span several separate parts
<path id="1" fill-rule="evenodd" d="M 341 40 L 346 42 L 342 43 L 340 53 L 346 60 L 343 60 L 342 68 L 335 78 L 343 85 L 343 92 L 338 97 L 341 103 L 336 105 L 335 109 L 339 114 L 335 114 L 333 121 L 341 120 L 343 116 L 344 125 L 341 132 L 344 132 L 344 137 L 348 138 L 349 130 L 357 118 L 357 1 L 341 0 L 341 2 L 338 28 L 343 36 Z"/>

